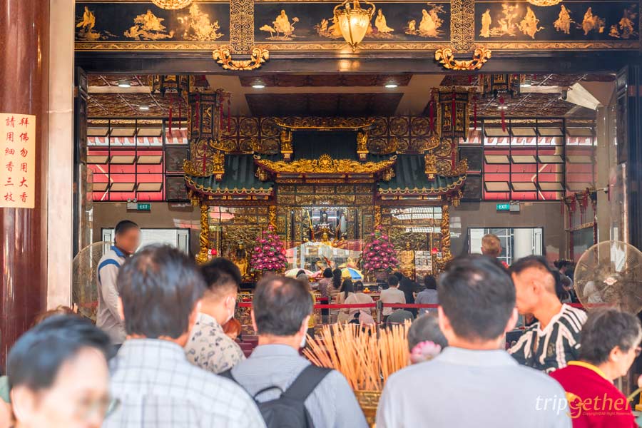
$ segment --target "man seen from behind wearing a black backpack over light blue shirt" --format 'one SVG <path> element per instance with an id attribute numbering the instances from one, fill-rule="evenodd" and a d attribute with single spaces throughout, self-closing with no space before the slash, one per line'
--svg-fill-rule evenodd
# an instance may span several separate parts
<path id="1" fill-rule="evenodd" d="M 267 276 L 256 286 L 252 307 L 258 347 L 220 375 L 255 399 L 267 428 L 367 428 L 345 377 L 299 355 L 312 314 L 310 292 L 292 278 Z"/>

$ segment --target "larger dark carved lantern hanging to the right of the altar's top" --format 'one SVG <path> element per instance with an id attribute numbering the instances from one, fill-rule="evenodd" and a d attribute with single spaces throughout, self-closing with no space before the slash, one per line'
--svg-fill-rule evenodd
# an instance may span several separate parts
<path id="1" fill-rule="evenodd" d="M 435 132 L 439 138 L 468 139 L 470 126 L 470 103 L 477 90 L 464 87 L 439 87 L 432 89 L 437 123 Z"/>

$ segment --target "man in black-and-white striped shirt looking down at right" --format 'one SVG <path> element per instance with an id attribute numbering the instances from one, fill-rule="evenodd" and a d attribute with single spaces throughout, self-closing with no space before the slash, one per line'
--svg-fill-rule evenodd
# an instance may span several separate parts
<path id="1" fill-rule="evenodd" d="M 517 310 L 538 320 L 528 327 L 509 353 L 522 365 L 543 372 L 577 360 L 586 312 L 559 301 L 556 277 L 545 258 L 529 256 L 511 266 Z"/>

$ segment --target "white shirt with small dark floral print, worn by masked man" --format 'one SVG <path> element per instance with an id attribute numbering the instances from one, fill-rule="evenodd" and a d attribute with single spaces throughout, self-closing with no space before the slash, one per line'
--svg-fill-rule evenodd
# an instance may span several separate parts
<path id="1" fill-rule="evenodd" d="M 201 369 L 219 374 L 245 360 L 238 343 L 225 334 L 223 327 L 210 315 L 199 313 L 185 345 L 188 361 Z"/>

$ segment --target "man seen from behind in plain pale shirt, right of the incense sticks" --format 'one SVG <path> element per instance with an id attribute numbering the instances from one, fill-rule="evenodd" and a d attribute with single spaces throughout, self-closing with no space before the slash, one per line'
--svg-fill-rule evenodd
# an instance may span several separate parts
<path id="1" fill-rule="evenodd" d="M 448 347 L 389 377 L 377 428 L 570 428 L 566 407 L 558 408 L 559 384 L 504 351 L 504 334 L 517 320 L 515 287 L 504 267 L 483 255 L 457 258 L 439 277 L 438 292 Z M 474 397 L 465 412 L 459 397 Z M 538 397 L 558 402 L 538 409 Z"/>

